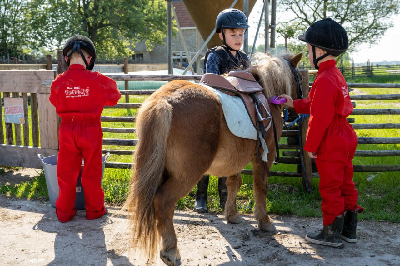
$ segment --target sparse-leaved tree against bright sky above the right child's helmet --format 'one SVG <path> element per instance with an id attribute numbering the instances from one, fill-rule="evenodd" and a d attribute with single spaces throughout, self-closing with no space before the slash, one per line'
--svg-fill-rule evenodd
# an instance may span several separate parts
<path id="1" fill-rule="evenodd" d="M 332 18 L 341 24 L 349 37 L 349 52 L 358 50 L 360 44 L 376 44 L 379 36 L 393 26 L 390 18 L 398 14 L 399 0 L 279 0 L 288 17 L 281 24 L 304 34 L 314 22 Z"/>

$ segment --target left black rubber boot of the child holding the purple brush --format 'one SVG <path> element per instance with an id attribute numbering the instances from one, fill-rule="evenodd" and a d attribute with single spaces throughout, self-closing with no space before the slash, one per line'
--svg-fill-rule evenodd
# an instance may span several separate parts
<path id="1" fill-rule="evenodd" d="M 337 216 L 332 224 L 324 225 L 319 233 L 307 233 L 308 242 L 326 246 L 339 247 L 342 245 L 342 234 L 344 214 Z"/>

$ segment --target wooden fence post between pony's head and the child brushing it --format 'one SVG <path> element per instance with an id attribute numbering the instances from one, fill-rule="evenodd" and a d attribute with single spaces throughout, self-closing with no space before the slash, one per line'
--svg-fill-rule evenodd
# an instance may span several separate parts
<path id="1" fill-rule="evenodd" d="M 309 80 L 308 80 L 308 70 L 300 70 L 302 75 L 304 76 L 303 82 L 302 82 L 302 90 L 303 90 L 303 98 L 308 97 L 308 92 L 309 92 Z M 308 157 L 307 151 L 304 151 L 304 145 L 306 144 L 306 135 L 307 135 L 307 129 L 308 129 L 308 120 L 309 117 L 304 118 L 303 123 L 301 125 L 301 143 L 302 143 L 302 149 L 303 149 L 303 161 L 304 161 L 304 168 L 306 172 L 306 176 L 304 176 L 304 171 L 302 169 L 302 182 L 303 182 L 303 187 L 307 188 L 306 186 L 306 180 L 308 183 L 308 187 L 312 187 L 312 166 L 311 166 L 311 158 Z"/>

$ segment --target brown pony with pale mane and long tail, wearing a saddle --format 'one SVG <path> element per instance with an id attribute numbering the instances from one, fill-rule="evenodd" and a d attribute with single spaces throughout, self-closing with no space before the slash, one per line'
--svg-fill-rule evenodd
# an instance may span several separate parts
<path id="1" fill-rule="evenodd" d="M 293 66 L 298 65 L 301 57 L 302 54 L 283 56 Z M 281 94 L 296 98 L 294 74 L 283 58 L 258 54 L 252 59 L 257 66 L 247 69 L 264 88 L 268 99 Z M 281 106 L 271 104 L 271 115 L 279 140 Z M 276 149 L 273 128 L 267 132 L 269 169 Z M 240 172 L 250 161 L 254 169 L 254 216 L 261 230 L 275 230 L 266 210 L 268 178 L 263 180 L 260 160 L 256 160 L 256 141 L 230 132 L 214 93 L 189 81 L 175 80 L 163 85 L 140 108 L 136 133 L 139 142 L 125 207 L 132 228 L 132 246 L 143 249 L 149 261 L 154 260 L 160 239 L 161 259 L 167 265 L 175 265 L 175 260 L 180 259 L 173 225 L 176 202 L 188 195 L 204 174 L 228 177 L 224 215 L 228 222 L 241 222 L 236 195 L 242 185 Z"/>

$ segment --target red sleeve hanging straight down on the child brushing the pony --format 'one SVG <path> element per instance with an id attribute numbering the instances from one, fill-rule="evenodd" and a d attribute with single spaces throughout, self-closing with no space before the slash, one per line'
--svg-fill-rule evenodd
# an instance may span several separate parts
<path id="1" fill-rule="evenodd" d="M 308 122 L 304 150 L 315 153 L 324 137 L 326 129 L 335 115 L 336 86 L 329 80 L 320 80 L 315 88 L 310 104 L 310 121 Z"/>

